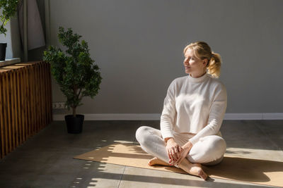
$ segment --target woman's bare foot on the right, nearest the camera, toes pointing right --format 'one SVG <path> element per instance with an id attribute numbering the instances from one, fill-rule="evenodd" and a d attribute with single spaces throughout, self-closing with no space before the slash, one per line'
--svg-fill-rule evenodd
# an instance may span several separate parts
<path id="1" fill-rule="evenodd" d="M 207 179 L 207 174 L 204 173 L 204 170 L 202 170 L 202 165 L 200 163 L 190 163 L 185 158 L 179 166 L 182 170 L 190 175 L 200 176 L 203 180 Z"/>

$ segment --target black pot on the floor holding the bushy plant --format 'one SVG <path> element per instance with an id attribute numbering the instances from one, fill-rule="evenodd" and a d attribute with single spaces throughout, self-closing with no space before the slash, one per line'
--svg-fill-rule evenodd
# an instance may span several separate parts
<path id="1" fill-rule="evenodd" d="M 81 133 L 81 131 L 83 130 L 83 119 L 84 115 L 80 114 L 77 114 L 76 117 L 74 117 L 74 115 L 65 115 L 68 133 Z"/>

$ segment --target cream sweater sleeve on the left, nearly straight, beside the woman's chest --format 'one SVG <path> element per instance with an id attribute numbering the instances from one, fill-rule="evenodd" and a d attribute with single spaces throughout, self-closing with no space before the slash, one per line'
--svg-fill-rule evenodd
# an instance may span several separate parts
<path id="1" fill-rule="evenodd" d="M 163 139 L 173 136 L 173 123 L 175 120 L 175 89 L 174 81 L 170 84 L 167 90 L 166 98 L 163 103 L 163 111 L 161 114 L 161 134 Z"/>

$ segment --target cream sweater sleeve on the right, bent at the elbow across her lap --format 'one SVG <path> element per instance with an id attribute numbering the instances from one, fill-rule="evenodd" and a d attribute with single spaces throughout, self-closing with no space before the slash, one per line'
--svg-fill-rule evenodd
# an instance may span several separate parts
<path id="1" fill-rule="evenodd" d="M 220 130 L 225 112 L 227 107 L 227 93 L 226 87 L 221 84 L 221 87 L 216 90 L 214 95 L 214 100 L 212 101 L 212 106 L 209 111 L 208 124 L 200 130 L 194 137 L 192 137 L 190 142 L 195 144 L 200 138 L 217 134 Z"/>

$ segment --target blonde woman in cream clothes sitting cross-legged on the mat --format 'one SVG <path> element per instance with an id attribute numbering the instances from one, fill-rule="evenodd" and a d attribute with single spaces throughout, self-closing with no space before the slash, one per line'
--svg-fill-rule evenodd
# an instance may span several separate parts
<path id="1" fill-rule="evenodd" d="M 175 165 L 207 179 L 202 165 L 219 163 L 226 142 L 219 129 L 227 106 L 220 75 L 221 57 L 205 42 L 184 49 L 187 76 L 171 82 L 164 99 L 161 130 L 142 126 L 136 132 L 141 148 L 154 156 L 149 165 Z"/>

